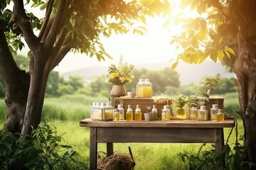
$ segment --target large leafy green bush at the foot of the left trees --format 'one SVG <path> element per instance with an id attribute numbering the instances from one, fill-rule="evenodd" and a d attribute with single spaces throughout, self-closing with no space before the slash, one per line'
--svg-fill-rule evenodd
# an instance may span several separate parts
<path id="1" fill-rule="evenodd" d="M 31 135 L 0 131 L 0 169 L 88 169 L 62 135 L 46 123 Z"/>

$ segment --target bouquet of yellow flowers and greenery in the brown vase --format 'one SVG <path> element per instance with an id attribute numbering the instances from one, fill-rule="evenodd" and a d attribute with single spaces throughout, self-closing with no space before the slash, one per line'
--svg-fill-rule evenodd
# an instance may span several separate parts
<path id="1" fill-rule="evenodd" d="M 132 75 L 133 64 L 123 63 L 122 57 L 119 59 L 118 66 L 111 64 L 108 69 L 106 82 L 114 85 L 123 85 L 132 82 L 134 76 Z"/>

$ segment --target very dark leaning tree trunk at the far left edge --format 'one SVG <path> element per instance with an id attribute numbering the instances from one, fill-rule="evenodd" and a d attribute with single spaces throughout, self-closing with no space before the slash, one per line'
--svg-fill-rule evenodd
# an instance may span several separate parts
<path id="1" fill-rule="evenodd" d="M 21 132 L 28 96 L 29 75 L 16 65 L 0 28 L 0 76 L 6 87 L 7 120 L 4 129 Z"/>

